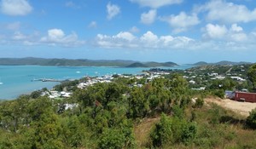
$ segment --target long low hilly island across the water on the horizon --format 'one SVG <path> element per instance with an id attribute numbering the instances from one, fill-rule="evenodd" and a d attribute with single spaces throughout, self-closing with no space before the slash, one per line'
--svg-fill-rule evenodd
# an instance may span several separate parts
<path id="1" fill-rule="evenodd" d="M 2 66 L 119 66 L 119 67 L 172 67 L 178 66 L 174 62 L 139 62 L 133 60 L 87 60 L 87 59 L 44 59 L 44 58 L 0 58 Z"/>

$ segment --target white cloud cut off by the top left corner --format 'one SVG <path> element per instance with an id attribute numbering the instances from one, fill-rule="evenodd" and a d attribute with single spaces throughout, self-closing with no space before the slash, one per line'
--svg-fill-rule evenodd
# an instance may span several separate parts
<path id="1" fill-rule="evenodd" d="M 26 15 L 32 12 L 32 6 L 26 0 L 2 0 L 0 9 L 3 14 Z"/>

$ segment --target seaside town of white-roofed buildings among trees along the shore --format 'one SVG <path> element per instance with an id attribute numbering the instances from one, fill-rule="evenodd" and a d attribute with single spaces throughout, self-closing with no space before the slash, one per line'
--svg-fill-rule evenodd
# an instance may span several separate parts
<path id="1" fill-rule="evenodd" d="M 118 78 L 132 80 L 130 87 L 143 87 L 145 83 L 151 82 L 154 78 L 178 73 L 188 81 L 189 89 L 198 91 L 213 89 L 216 92 L 215 95 L 220 98 L 235 99 L 236 93 L 252 91 L 253 86 L 247 80 L 249 66 L 251 65 L 196 66 L 187 70 L 152 68 L 137 75 L 114 74 L 102 77 L 84 77 L 75 81 L 67 80 L 67 83 L 56 85 L 59 87 L 68 84 L 65 88 L 61 88 L 63 90 L 56 88 L 44 90 L 41 95 L 47 95 L 51 99 L 69 98 L 73 94 L 73 89 L 86 89 L 95 83 L 111 83 Z M 74 86 L 75 88 L 73 88 Z M 241 100 L 244 99 L 243 97 L 240 98 Z M 250 102 L 256 102 L 256 99 L 250 100 Z"/>

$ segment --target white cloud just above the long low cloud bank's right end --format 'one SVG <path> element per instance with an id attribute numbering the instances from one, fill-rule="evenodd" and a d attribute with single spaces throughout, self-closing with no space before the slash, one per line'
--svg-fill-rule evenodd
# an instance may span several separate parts
<path id="1" fill-rule="evenodd" d="M 200 23 L 196 14 L 188 15 L 184 12 L 181 12 L 178 15 L 171 15 L 160 18 L 160 20 L 166 21 L 170 26 L 174 28 L 173 32 L 184 32 L 190 26 L 195 26 Z"/>

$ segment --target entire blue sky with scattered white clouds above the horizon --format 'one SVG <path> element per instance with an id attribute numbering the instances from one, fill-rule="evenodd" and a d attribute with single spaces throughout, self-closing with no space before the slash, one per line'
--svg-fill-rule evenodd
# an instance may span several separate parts
<path id="1" fill-rule="evenodd" d="M 256 62 L 256 3 L 0 0 L 0 57 Z"/>

